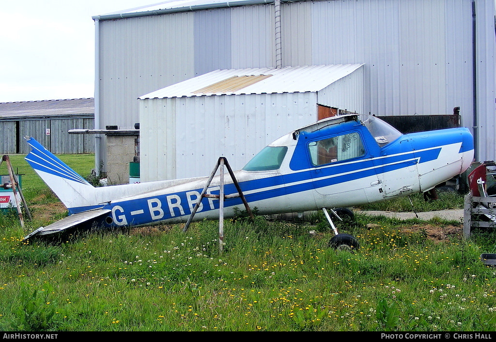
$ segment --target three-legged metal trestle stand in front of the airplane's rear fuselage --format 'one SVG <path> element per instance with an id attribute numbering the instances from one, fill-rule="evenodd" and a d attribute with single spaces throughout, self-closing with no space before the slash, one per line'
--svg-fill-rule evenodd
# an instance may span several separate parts
<path id="1" fill-rule="evenodd" d="M 233 183 L 236 186 L 236 190 L 238 190 L 238 194 L 224 195 L 224 165 L 227 167 L 227 170 L 231 175 L 231 179 L 233 180 Z M 212 179 L 214 178 L 215 173 L 217 172 L 219 167 L 220 167 L 220 193 L 219 195 L 207 194 L 206 192 L 208 186 L 212 182 Z M 189 215 L 185 227 L 183 228 L 184 232 L 186 232 L 187 228 L 189 227 L 189 224 L 191 223 L 191 220 L 193 219 L 193 216 L 196 213 L 196 210 L 198 209 L 201 200 L 204 197 L 219 199 L 219 249 L 220 251 L 222 251 L 224 246 L 224 201 L 228 198 L 241 197 L 241 199 L 243 200 L 243 204 L 245 205 L 245 208 L 248 212 L 248 215 L 251 218 L 253 218 L 253 214 L 251 213 L 251 209 L 249 208 L 248 202 L 245 199 L 245 195 L 243 195 L 243 191 L 241 190 L 240 185 L 238 184 L 238 181 L 236 180 L 236 177 L 234 176 L 234 172 L 231 169 L 231 166 L 229 165 L 226 157 L 219 157 L 219 159 L 217 160 L 217 164 L 215 165 L 215 168 L 210 174 L 210 177 L 208 178 L 208 181 L 205 184 L 205 187 L 203 188 L 200 196 L 198 197 L 198 200 L 196 201 L 196 204 L 193 207 L 193 211 L 191 211 L 191 214 Z M 220 199 L 222 199 L 222 201 Z"/>

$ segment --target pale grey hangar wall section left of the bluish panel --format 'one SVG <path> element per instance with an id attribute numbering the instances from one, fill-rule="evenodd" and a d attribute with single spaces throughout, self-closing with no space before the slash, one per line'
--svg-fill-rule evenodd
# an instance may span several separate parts
<path id="1" fill-rule="evenodd" d="M 103 20 L 99 35 L 100 92 L 95 97 L 100 99 L 95 104 L 100 103 L 102 129 L 134 128 L 138 96 L 195 75 L 193 12 Z M 101 140 L 106 163 L 105 137 Z"/>

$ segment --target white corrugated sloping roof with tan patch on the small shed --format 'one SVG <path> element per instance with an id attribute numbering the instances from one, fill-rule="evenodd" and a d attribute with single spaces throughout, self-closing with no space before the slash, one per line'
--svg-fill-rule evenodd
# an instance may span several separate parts
<path id="1" fill-rule="evenodd" d="M 216 70 L 169 87 L 140 96 L 146 98 L 190 97 L 203 95 L 239 95 L 315 92 L 351 74 L 360 64 L 305 66 L 286 68 L 249 68 Z M 257 77 L 257 82 L 245 83 L 244 76 Z M 262 76 L 262 77 L 260 77 Z M 270 77 L 263 77 L 270 76 Z M 213 89 L 215 84 L 231 81 L 229 89 Z M 242 86 L 240 88 L 241 85 Z M 201 89 L 208 92 L 200 92 Z"/>

